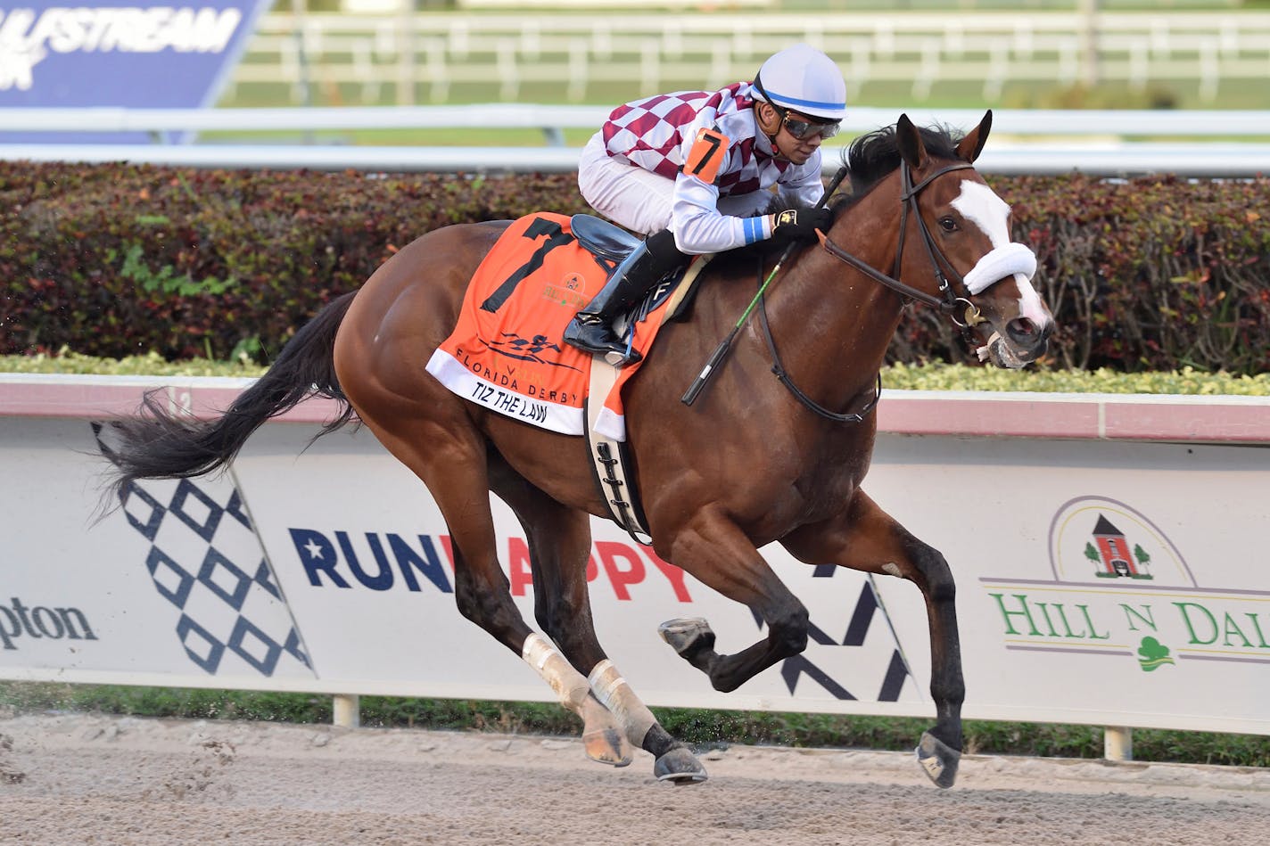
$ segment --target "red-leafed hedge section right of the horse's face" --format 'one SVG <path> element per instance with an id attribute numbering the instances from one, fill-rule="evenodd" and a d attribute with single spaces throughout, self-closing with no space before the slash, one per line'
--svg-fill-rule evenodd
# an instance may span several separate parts
<path id="1" fill-rule="evenodd" d="M 1015 240 L 1039 259 L 1057 366 L 1270 370 L 1270 179 L 989 182 L 1013 207 Z M 914 316 L 893 358 L 955 359 L 956 333 Z"/>

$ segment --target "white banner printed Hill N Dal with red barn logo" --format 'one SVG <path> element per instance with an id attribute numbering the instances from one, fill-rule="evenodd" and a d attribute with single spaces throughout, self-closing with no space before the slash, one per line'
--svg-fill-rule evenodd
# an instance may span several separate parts
<path id="1" fill-rule="evenodd" d="M 1264 447 L 893 437 L 879 453 L 870 494 L 958 578 L 968 713 L 1270 733 Z M 916 639 L 912 597 L 883 594 Z"/>

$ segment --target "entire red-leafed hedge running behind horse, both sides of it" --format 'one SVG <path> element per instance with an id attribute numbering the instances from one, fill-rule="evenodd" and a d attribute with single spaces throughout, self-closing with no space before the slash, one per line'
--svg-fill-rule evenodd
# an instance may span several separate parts
<path id="1" fill-rule="evenodd" d="M 1055 367 L 1270 370 L 1270 179 L 992 180 L 1038 253 Z M 0 354 L 267 361 L 323 304 L 453 222 L 587 211 L 572 174 L 0 163 Z M 966 361 L 914 309 L 890 361 Z"/>

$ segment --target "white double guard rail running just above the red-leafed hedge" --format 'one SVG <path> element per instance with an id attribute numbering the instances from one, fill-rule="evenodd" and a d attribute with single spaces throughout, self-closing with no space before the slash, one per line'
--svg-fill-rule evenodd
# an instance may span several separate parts
<path id="1" fill-rule="evenodd" d="M 538 128 L 545 147 L 406 147 L 297 144 L 217 145 L 0 145 L 0 159 L 30 161 L 130 161 L 201 168 L 345 168 L 376 171 L 541 171 L 578 166 L 577 147 L 560 146 L 563 130 L 598 127 L 607 107 L 434 105 L 370 108 L 262 109 L 0 109 L 0 124 L 23 131 L 353 131 L 366 128 Z M 908 112 L 918 124 L 970 128 L 979 109 Z M 852 109 L 848 133 L 894 123 L 898 109 Z M 1176 173 L 1189 177 L 1251 177 L 1270 170 L 1270 144 L 1196 141 L 1194 138 L 1270 137 L 1266 112 L 1063 112 L 1002 109 L 993 113 L 993 141 L 979 169 L 998 174 L 1092 175 Z M 1063 138 L 1055 141 L 1055 137 Z M 1190 138 L 1156 141 L 1129 138 Z M 826 149 L 826 166 L 837 166 L 841 150 Z"/>

